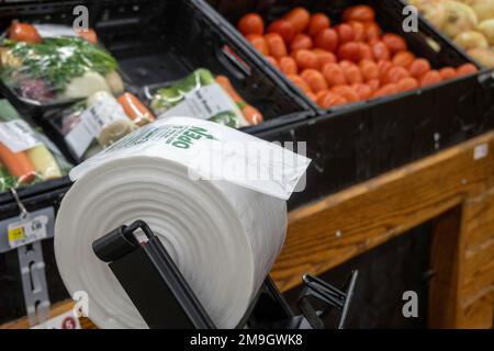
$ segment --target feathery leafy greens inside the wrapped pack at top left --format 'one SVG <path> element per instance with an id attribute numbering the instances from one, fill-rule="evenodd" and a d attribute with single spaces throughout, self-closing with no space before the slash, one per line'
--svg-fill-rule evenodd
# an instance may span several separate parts
<path id="1" fill-rule="evenodd" d="M 79 37 L 45 38 L 40 44 L 4 39 L 3 45 L 23 61 L 21 68 L 4 69 L 2 79 L 41 79 L 64 90 L 74 78 L 92 70 L 102 76 L 116 69 L 116 60 L 104 49 Z M 7 77 L 5 77 L 7 76 Z"/>

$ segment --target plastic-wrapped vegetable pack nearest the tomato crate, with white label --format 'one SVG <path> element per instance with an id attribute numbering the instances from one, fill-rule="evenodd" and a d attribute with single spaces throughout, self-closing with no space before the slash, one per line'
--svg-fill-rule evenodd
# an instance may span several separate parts
<path id="1" fill-rule="evenodd" d="M 158 118 L 187 116 L 210 120 L 233 128 L 262 123 L 262 114 L 235 91 L 228 78 L 214 77 L 204 68 L 150 92 L 150 106 Z"/>

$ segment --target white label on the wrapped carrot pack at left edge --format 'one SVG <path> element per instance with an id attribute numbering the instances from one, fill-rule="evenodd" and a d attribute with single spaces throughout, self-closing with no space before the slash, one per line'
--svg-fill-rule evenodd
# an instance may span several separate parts
<path id="1" fill-rule="evenodd" d="M 41 144 L 33 128 L 23 120 L 0 123 L 0 141 L 12 152 L 25 151 Z"/>

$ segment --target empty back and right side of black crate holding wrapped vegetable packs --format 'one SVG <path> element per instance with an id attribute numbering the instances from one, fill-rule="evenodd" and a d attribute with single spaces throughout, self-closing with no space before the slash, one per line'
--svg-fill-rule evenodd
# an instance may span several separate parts
<path id="1" fill-rule="evenodd" d="M 12 19 L 71 24 L 74 7 L 86 5 L 90 26 L 117 59 L 126 88 L 134 93 L 144 86 L 166 84 L 204 67 L 227 76 L 239 94 L 262 112 L 266 122 L 246 128 L 248 133 L 314 114 L 295 91 L 265 67 L 263 60 L 245 50 L 236 35 L 223 31 L 215 15 L 201 11 L 201 1 L 31 2 L 11 4 L 9 11 L 1 11 L 4 14 L 0 20 L 4 25 Z"/>

